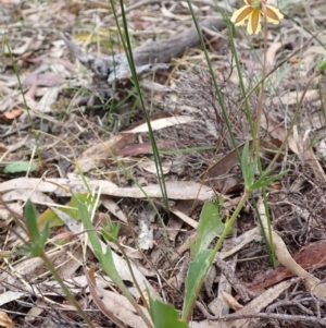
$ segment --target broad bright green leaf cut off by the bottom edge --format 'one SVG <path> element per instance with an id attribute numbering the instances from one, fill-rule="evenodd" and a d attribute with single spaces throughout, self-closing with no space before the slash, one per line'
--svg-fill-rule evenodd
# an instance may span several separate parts
<path id="1" fill-rule="evenodd" d="M 188 325 L 178 318 L 173 305 L 154 300 L 149 295 L 150 315 L 155 328 L 188 328 Z"/>

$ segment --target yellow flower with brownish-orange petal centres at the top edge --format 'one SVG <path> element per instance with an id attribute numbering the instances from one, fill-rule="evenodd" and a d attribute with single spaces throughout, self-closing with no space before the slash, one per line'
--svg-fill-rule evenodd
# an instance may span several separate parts
<path id="1" fill-rule="evenodd" d="M 262 5 L 266 8 L 267 22 L 279 24 L 284 19 L 279 10 L 273 5 L 266 4 L 268 0 L 243 0 L 247 4 L 234 12 L 231 22 L 236 26 L 244 24 L 248 19 L 247 31 L 249 34 L 259 34 L 261 31 L 261 16 L 264 14 Z M 263 2 L 263 3 L 262 3 Z"/>

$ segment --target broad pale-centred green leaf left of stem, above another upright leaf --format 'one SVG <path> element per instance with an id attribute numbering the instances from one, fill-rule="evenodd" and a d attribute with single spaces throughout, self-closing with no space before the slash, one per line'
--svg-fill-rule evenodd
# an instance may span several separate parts
<path id="1" fill-rule="evenodd" d="M 220 216 L 220 206 L 212 202 L 205 202 L 202 207 L 199 224 L 197 227 L 197 241 L 191 245 L 191 257 L 195 258 L 200 251 L 206 250 L 212 240 L 224 230 L 224 223 Z"/>

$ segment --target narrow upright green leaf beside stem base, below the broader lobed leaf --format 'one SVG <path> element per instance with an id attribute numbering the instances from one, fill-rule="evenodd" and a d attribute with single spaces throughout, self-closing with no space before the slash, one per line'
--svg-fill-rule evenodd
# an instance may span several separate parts
<path id="1" fill-rule="evenodd" d="M 212 250 L 202 250 L 197 257 L 189 264 L 188 275 L 185 286 L 185 302 L 183 309 L 183 319 L 189 321 L 195 301 L 200 292 L 200 287 L 210 268 L 210 257 Z"/>

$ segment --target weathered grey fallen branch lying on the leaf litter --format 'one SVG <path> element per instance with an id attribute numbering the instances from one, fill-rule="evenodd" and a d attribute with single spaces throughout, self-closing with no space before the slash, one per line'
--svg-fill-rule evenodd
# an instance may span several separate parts
<path id="1" fill-rule="evenodd" d="M 222 19 L 208 19 L 202 21 L 200 26 L 221 31 L 225 27 L 225 23 Z M 114 57 L 95 57 L 83 52 L 68 35 L 62 33 L 61 36 L 70 51 L 80 63 L 91 70 L 99 80 L 106 81 L 109 86 L 115 81 L 127 80 L 131 76 L 125 53 Z M 199 41 L 197 29 L 191 27 L 168 39 L 145 42 L 133 50 L 137 74 L 158 69 L 168 69 L 167 63 L 172 58 L 180 57 L 186 49 L 197 46 Z"/>

